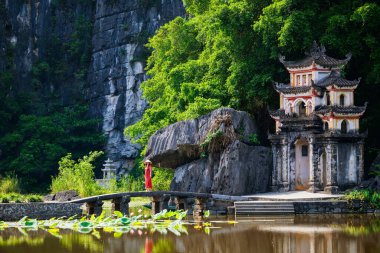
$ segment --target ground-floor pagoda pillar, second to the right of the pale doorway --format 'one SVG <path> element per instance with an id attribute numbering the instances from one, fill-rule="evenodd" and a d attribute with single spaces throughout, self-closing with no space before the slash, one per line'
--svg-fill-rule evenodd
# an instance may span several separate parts
<path id="1" fill-rule="evenodd" d="M 337 172 L 338 172 L 338 161 L 337 161 L 337 144 L 336 142 L 329 141 L 326 146 L 326 179 L 327 185 L 324 189 L 327 193 L 336 193 L 339 191 Z"/>

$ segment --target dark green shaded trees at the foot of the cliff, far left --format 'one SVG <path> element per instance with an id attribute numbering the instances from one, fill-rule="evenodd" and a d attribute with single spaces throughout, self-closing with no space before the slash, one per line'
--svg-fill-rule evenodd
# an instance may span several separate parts
<path id="1" fill-rule="evenodd" d="M 1 173 L 18 175 L 27 191 L 46 190 L 63 155 L 79 157 L 103 146 L 98 120 L 86 113 L 86 106 L 75 106 L 49 115 L 21 115 L 14 130 L 0 138 Z"/>

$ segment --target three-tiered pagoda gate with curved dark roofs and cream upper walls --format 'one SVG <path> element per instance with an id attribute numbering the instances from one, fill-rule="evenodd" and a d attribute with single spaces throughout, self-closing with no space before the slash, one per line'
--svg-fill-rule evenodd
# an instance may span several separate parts
<path id="1" fill-rule="evenodd" d="M 365 106 L 354 105 L 360 79 L 346 80 L 342 68 L 351 55 L 335 59 L 314 42 L 306 57 L 281 63 L 290 84 L 275 83 L 280 109 L 272 143 L 272 191 L 308 190 L 335 193 L 363 178 L 364 134 L 359 118 Z"/>

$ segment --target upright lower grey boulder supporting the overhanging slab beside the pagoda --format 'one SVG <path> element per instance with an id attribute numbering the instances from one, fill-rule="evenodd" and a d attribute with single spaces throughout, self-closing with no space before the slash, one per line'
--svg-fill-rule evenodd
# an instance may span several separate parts
<path id="1" fill-rule="evenodd" d="M 236 140 L 222 154 L 212 154 L 177 168 L 172 191 L 244 195 L 268 190 L 269 148 Z"/>

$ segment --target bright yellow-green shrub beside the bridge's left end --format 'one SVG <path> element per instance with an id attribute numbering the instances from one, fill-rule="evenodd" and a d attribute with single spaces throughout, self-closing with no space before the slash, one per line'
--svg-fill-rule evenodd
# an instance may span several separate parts
<path id="1" fill-rule="evenodd" d="M 81 197 L 101 193 L 102 189 L 95 181 L 92 163 L 102 154 L 101 151 L 90 152 L 77 162 L 72 159 L 71 154 L 63 157 L 59 161 L 59 174 L 52 180 L 52 193 L 76 190 Z"/>

